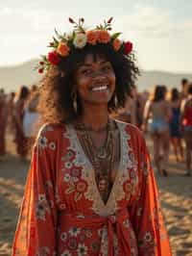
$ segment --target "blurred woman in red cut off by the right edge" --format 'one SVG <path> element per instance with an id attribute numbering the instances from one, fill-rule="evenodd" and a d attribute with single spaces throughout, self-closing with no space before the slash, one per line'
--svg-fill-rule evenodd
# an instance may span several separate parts
<path id="1" fill-rule="evenodd" d="M 191 175 L 191 154 L 192 154 L 192 84 L 188 86 L 188 96 L 182 101 L 181 129 L 183 130 L 183 137 L 185 141 L 186 150 L 186 176 Z"/>

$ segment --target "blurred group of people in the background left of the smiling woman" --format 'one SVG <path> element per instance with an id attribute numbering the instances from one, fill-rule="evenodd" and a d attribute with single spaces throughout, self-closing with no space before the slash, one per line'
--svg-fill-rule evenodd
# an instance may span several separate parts
<path id="1" fill-rule="evenodd" d="M 36 85 L 6 94 L 0 90 L 0 158 L 6 155 L 6 135 L 11 135 L 18 157 L 25 161 L 38 130 L 39 92 Z"/>

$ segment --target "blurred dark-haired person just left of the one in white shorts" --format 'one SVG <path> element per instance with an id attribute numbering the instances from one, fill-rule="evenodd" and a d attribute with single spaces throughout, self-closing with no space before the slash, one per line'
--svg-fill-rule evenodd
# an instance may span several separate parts
<path id="1" fill-rule="evenodd" d="M 23 116 L 24 116 L 24 106 L 26 100 L 29 96 L 29 89 L 25 86 L 22 86 L 18 91 L 18 94 L 14 102 L 14 125 L 15 125 L 15 139 L 16 143 L 16 152 L 19 155 L 21 160 L 25 160 L 27 157 L 27 140 L 23 131 Z"/>

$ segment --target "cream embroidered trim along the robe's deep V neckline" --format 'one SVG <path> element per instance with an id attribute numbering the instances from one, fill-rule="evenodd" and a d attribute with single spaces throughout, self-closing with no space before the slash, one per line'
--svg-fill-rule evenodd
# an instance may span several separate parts
<path id="1" fill-rule="evenodd" d="M 84 198 L 92 201 L 92 210 L 100 216 L 115 214 L 118 210 L 118 201 L 124 198 L 129 200 L 138 183 L 136 173 L 137 163 L 129 143 L 131 137 L 126 131 L 127 124 L 117 121 L 117 125 L 120 130 L 121 158 L 107 204 L 105 204 L 101 198 L 95 181 L 93 166 L 87 159 L 74 128 L 68 125 L 64 133 L 64 137 L 67 138 L 70 143 L 67 150 L 73 150 L 76 153 L 72 163 L 74 166 L 82 167 L 82 179 L 87 182 L 87 190 L 84 191 Z M 125 190 L 124 184 L 126 181 L 129 181 L 131 184 L 130 192 Z"/>

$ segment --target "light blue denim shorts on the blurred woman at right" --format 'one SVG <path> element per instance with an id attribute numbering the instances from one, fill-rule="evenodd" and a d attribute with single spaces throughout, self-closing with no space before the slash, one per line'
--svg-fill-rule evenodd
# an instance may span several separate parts
<path id="1" fill-rule="evenodd" d="M 149 119 L 148 129 L 151 133 L 164 132 L 169 129 L 168 123 L 163 118 Z"/>

